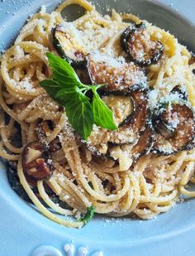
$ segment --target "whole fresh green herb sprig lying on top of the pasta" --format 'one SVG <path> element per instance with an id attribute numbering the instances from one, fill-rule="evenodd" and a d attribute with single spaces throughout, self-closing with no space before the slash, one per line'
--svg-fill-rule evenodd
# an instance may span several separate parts
<path id="1" fill-rule="evenodd" d="M 48 52 L 53 78 L 40 82 L 50 97 L 65 108 L 69 123 L 80 136 L 87 140 L 93 123 L 110 130 L 117 129 L 111 109 L 99 97 L 97 89 L 103 85 L 83 85 L 66 60 Z M 92 103 L 86 93 L 93 92 Z"/>

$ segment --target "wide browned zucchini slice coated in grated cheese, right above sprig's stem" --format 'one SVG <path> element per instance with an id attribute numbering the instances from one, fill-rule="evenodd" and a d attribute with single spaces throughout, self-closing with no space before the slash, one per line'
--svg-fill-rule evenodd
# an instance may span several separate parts
<path id="1" fill-rule="evenodd" d="M 132 85 L 145 85 L 145 71 L 133 63 L 115 60 L 99 53 L 86 57 L 88 75 L 95 85 L 105 84 L 102 90 L 108 93 L 128 93 Z"/>

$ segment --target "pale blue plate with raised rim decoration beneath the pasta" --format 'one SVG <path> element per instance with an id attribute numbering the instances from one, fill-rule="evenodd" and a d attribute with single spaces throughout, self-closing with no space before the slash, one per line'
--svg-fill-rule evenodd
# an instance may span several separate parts
<path id="1" fill-rule="evenodd" d="M 121 12 L 139 14 L 141 18 L 171 31 L 179 41 L 195 51 L 195 1 L 187 0 L 180 4 L 175 0 L 161 2 L 169 3 L 170 6 L 174 2 L 174 5 L 165 7 L 158 2 L 145 0 L 96 1 L 102 12 L 106 12 L 108 5 Z M 39 0 L 1 1 L 0 50 L 11 44 L 29 14 L 37 12 L 42 4 L 51 11 L 58 3 Z M 189 20 L 175 12 L 175 8 Z M 46 219 L 21 200 L 7 182 L 3 163 L 0 163 L 0 169 L 1 256 L 195 255 L 195 200 L 186 200 L 155 220 L 110 220 L 97 217 L 83 229 L 67 229 Z M 74 254 L 71 254 L 73 250 Z"/>

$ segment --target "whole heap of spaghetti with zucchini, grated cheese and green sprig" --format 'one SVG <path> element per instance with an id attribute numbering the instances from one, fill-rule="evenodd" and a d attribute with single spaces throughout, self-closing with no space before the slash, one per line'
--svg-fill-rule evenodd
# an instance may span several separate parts
<path id="1" fill-rule="evenodd" d="M 86 12 L 67 22 L 71 4 Z M 0 65 L 8 181 L 50 220 L 148 220 L 195 196 L 195 56 L 169 32 L 66 0 L 41 7 Z"/>

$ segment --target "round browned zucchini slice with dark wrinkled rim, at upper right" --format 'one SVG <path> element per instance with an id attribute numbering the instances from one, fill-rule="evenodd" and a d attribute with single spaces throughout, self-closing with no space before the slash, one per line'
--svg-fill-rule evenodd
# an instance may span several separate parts
<path id="1" fill-rule="evenodd" d="M 127 27 L 121 35 L 121 46 L 130 60 L 140 66 L 157 63 L 164 52 L 160 41 L 150 39 L 144 23 Z"/>

